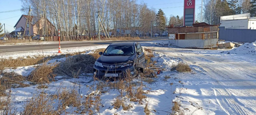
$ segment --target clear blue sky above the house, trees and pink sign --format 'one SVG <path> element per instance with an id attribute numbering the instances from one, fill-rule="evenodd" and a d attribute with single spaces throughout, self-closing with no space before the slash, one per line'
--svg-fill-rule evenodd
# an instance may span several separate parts
<path id="1" fill-rule="evenodd" d="M 20 0 L 0 0 L 1 1 L 1 11 L 10 11 L 21 9 L 21 2 Z M 162 8 L 165 15 L 169 18 L 170 15 L 174 16 L 183 16 L 183 4 L 184 0 L 137 0 L 137 3 L 140 4 L 141 2 L 147 3 L 149 8 Z M 177 3 L 178 2 L 178 3 Z M 158 5 L 160 4 L 160 5 Z M 196 0 L 196 16 L 201 10 L 199 7 L 201 6 L 201 0 Z M 175 7 L 175 8 L 170 8 Z M 156 9 L 158 11 L 158 9 Z M 23 13 L 21 11 L 14 11 L 9 13 L 0 13 L 0 23 L 6 24 L 5 29 L 9 32 L 14 30 L 13 26 L 19 20 L 20 16 Z M 12 17 L 12 18 L 11 18 Z M 6 19 L 9 18 L 9 19 Z M 197 19 L 197 18 L 196 18 Z"/>

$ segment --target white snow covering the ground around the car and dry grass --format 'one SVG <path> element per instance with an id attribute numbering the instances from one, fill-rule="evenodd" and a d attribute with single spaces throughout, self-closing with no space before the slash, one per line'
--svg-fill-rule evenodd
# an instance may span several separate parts
<path id="1" fill-rule="evenodd" d="M 160 45 L 159 45 L 160 43 Z M 169 114 L 172 111 L 173 101 L 180 102 L 180 110 L 185 114 L 195 115 L 219 115 L 219 114 L 256 114 L 256 55 L 255 53 L 243 54 L 234 53 L 232 50 L 202 50 L 202 49 L 179 49 L 169 48 L 161 44 L 167 41 L 142 42 L 142 47 L 154 51 L 156 66 L 165 70 L 154 83 L 143 82 L 144 94 L 147 98 L 139 102 L 129 101 L 123 97 L 125 105 L 131 104 L 129 110 L 113 109 L 112 104 L 119 95 L 118 90 L 110 90 L 100 96 L 103 106 L 100 114 L 145 114 L 145 104 L 148 102 L 148 109 L 151 114 Z M 255 42 L 249 44 L 250 52 L 255 51 Z M 254 47 L 255 46 L 255 47 Z M 107 45 L 77 47 L 62 49 L 64 53 L 90 51 L 99 48 L 106 48 Z M 239 52 L 244 48 L 241 45 Z M 246 47 L 246 49 L 248 49 Z M 44 50 L 44 55 L 56 55 L 56 50 Z M 230 52 L 230 53 L 229 53 Z M 249 50 L 245 51 L 249 52 Z M 87 52 L 88 53 L 88 52 Z M 26 57 L 27 55 L 42 55 L 42 51 L 29 51 L 9 53 L 8 56 Z M 55 59 L 56 60 L 56 59 Z M 55 62 L 55 61 L 50 61 Z M 179 62 L 188 63 L 192 72 L 170 71 L 173 64 Z M 33 69 L 32 66 L 18 67 L 17 69 L 6 69 L 24 76 Z M 167 77 L 166 77 L 167 76 Z M 170 77 L 170 78 L 169 78 Z M 94 82 L 91 82 L 91 74 L 84 74 L 77 79 L 67 79 L 65 76 L 57 76 L 56 82 L 47 84 L 47 94 L 55 94 L 61 87 L 76 87 L 81 97 L 90 93 Z M 136 79 L 134 79 L 136 81 Z M 97 81 L 96 81 L 97 82 Z M 79 83 L 79 84 L 74 84 Z M 41 92 L 37 85 L 25 88 L 12 88 L 12 106 L 17 111 L 22 111 L 24 104 L 33 97 L 36 92 Z M 56 105 L 55 105 L 56 106 Z M 67 114 L 75 114 L 76 108 L 67 107 Z M 99 114 L 99 113 L 97 113 Z"/>

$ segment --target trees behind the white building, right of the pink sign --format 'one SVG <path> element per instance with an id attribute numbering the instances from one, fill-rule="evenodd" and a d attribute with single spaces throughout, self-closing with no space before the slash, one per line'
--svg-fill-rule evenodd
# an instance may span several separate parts
<path id="1" fill-rule="evenodd" d="M 217 25 L 221 16 L 250 13 L 256 16 L 256 0 L 204 0 L 203 21 Z M 198 20 L 201 17 L 198 15 Z"/>

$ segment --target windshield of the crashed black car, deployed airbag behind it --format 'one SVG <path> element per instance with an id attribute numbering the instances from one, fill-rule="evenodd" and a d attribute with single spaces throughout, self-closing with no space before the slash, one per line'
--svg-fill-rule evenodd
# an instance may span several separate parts
<path id="1" fill-rule="evenodd" d="M 112 45 L 109 46 L 104 55 L 112 56 L 112 55 L 133 55 L 134 48 L 132 45 Z"/>

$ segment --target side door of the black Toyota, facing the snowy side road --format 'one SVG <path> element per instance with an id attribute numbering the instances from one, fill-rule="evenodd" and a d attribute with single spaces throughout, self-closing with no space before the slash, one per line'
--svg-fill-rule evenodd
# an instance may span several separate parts
<path id="1" fill-rule="evenodd" d="M 144 63 L 145 63 L 145 54 L 143 52 L 143 49 L 141 47 L 141 44 L 137 44 L 137 48 L 136 48 L 136 53 L 137 53 L 137 58 L 138 58 L 138 64 L 136 66 L 136 68 L 141 67 L 144 68 Z"/>

